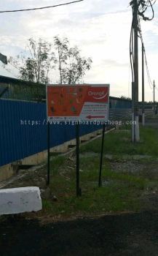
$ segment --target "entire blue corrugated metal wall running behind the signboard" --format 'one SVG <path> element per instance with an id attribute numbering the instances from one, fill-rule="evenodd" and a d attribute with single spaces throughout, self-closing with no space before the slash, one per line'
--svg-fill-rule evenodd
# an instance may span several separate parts
<path id="1" fill-rule="evenodd" d="M 117 116 L 129 113 L 131 102 L 114 99 L 110 103 L 111 118 L 117 106 Z M 122 109 L 124 108 L 124 112 Z M 116 120 L 116 118 L 114 118 Z M 45 120 L 45 122 L 44 122 Z M 28 123 L 30 121 L 30 124 Z M 36 124 L 32 125 L 32 121 Z M 44 124 L 43 124 L 44 122 Z M 100 129 L 98 125 L 81 125 L 80 135 Z M 58 146 L 75 138 L 75 127 L 71 124 L 50 126 L 50 146 Z M 17 159 L 31 156 L 47 148 L 47 125 L 45 103 L 0 99 L 0 166 Z"/>

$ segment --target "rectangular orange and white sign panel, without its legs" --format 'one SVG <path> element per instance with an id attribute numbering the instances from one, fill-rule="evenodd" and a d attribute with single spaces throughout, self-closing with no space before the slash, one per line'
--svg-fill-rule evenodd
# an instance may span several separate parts
<path id="1" fill-rule="evenodd" d="M 47 118 L 57 121 L 106 121 L 109 85 L 47 86 Z"/>

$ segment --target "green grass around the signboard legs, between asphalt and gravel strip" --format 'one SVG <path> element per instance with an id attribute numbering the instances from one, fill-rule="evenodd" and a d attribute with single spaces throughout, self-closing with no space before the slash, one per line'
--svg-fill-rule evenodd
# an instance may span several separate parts
<path id="1" fill-rule="evenodd" d="M 68 165 L 68 159 L 62 160 Z M 103 162 L 103 181 L 106 184 L 98 187 L 99 158 L 81 159 L 82 197 L 76 197 L 75 167 L 66 172 L 52 176 L 50 189 L 57 201 L 44 200 L 44 212 L 52 215 L 70 216 L 87 214 L 104 214 L 106 212 L 139 211 L 140 197 L 148 187 L 147 178 L 111 171 L 108 162 Z"/>

